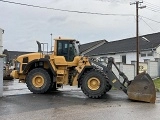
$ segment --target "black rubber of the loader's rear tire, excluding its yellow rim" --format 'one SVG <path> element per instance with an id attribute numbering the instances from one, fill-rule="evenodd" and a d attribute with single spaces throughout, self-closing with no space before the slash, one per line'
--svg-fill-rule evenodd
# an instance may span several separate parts
<path id="1" fill-rule="evenodd" d="M 41 87 L 36 87 L 32 83 L 32 79 L 36 76 L 40 75 L 44 79 L 44 84 Z M 43 68 L 35 68 L 31 70 L 26 77 L 26 84 L 28 89 L 33 93 L 46 93 L 51 86 L 51 78 L 48 72 Z"/>

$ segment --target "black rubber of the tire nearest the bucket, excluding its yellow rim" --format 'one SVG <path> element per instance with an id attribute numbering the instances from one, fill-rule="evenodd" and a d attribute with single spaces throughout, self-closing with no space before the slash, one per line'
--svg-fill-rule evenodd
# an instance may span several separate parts
<path id="1" fill-rule="evenodd" d="M 92 77 L 95 77 L 100 81 L 100 87 L 97 90 L 91 90 L 88 87 L 88 80 Z M 95 69 L 86 72 L 80 80 L 81 90 L 89 98 L 100 98 L 105 95 L 106 92 L 109 91 L 109 89 L 111 89 L 107 78 L 100 71 L 97 71 Z"/>

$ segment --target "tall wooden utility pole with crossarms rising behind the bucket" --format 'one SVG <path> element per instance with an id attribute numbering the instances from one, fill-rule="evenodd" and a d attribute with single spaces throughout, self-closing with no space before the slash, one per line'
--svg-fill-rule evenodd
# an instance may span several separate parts
<path id="1" fill-rule="evenodd" d="M 143 1 L 136 1 L 135 3 L 131 3 L 130 5 L 136 4 L 136 74 L 139 74 L 139 8 L 145 8 L 146 6 L 139 6 L 139 4 L 143 3 Z"/>

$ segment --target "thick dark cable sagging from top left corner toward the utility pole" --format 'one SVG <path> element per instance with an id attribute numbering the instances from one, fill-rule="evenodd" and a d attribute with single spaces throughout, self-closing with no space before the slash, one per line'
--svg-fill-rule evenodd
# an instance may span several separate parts
<path id="1" fill-rule="evenodd" d="M 34 7 L 34 8 L 56 10 L 56 11 L 61 11 L 61 12 L 80 13 L 80 14 L 112 15 L 112 16 L 134 16 L 133 14 L 108 14 L 108 13 L 96 13 L 96 12 L 86 12 L 86 11 L 77 11 L 77 10 L 66 10 L 66 9 L 51 8 L 51 7 L 31 5 L 31 4 L 26 4 L 26 3 L 18 3 L 18 2 L 12 2 L 12 1 L 6 1 L 6 0 L 0 0 L 0 2 L 16 4 L 16 5 L 22 5 L 22 6 L 28 6 L 28 7 Z"/>

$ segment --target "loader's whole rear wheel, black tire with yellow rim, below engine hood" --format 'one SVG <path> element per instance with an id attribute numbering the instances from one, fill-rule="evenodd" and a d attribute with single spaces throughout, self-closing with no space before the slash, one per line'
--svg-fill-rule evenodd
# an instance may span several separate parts
<path id="1" fill-rule="evenodd" d="M 26 84 L 33 93 L 45 93 L 51 86 L 51 78 L 45 69 L 35 68 L 28 73 Z"/>

